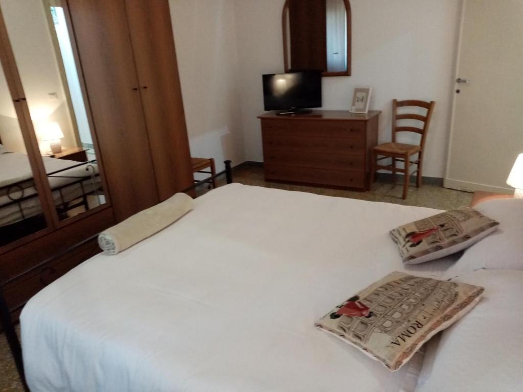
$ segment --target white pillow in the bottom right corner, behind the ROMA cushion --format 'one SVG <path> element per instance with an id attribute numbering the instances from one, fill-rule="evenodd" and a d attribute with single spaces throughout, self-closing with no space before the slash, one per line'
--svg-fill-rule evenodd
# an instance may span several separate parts
<path id="1" fill-rule="evenodd" d="M 434 360 L 424 362 L 416 392 L 523 390 L 523 271 L 478 270 L 453 281 L 485 291 L 439 344 L 427 345 L 425 358 Z"/>

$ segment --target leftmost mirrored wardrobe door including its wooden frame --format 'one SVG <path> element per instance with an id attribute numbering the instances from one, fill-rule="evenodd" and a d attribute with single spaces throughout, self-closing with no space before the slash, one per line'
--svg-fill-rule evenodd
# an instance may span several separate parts
<path id="1" fill-rule="evenodd" d="M 52 222 L 39 176 L 36 141 L 31 140 L 19 82 L 0 4 L 0 261 L 3 248 L 40 232 Z M 0 283 L 4 273 L 0 268 Z"/>

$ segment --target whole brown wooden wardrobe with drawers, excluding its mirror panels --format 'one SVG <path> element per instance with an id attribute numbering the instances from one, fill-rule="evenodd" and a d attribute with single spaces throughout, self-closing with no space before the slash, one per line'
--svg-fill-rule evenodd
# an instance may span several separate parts
<path id="1" fill-rule="evenodd" d="M 0 246 L 0 292 L 13 319 L 32 295 L 100 251 L 101 230 L 193 183 L 168 0 L 50 1 L 63 7 L 70 27 L 107 200 L 58 218 L 26 99 L 12 89 L 47 222 Z M 10 50 L 3 20 L 1 48 Z M 21 86 L 9 53 L 0 51 L 6 77 Z"/>

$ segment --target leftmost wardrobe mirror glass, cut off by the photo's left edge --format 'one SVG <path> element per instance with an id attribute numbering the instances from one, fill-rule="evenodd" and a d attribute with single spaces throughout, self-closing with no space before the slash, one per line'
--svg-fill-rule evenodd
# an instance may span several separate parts
<path id="1" fill-rule="evenodd" d="M 0 247 L 46 226 L 13 97 L 0 66 Z"/>

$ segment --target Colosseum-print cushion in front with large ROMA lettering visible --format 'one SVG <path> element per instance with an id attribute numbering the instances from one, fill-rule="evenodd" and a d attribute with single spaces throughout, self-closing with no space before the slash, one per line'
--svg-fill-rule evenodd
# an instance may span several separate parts
<path id="1" fill-rule="evenodd" d="M 482 293 L 480 286 L 393 272 L 315 325 L 396 371 L 423 343 L 469 312 Z"/>

